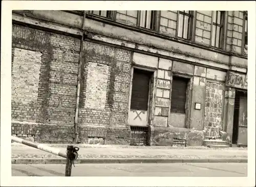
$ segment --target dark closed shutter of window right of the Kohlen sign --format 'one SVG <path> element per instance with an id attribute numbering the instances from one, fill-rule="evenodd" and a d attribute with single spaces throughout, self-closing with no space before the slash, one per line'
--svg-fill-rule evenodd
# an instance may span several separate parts
<path id="1" fill-rule="evenodd" d="M 173 77 L 170 112 L 185 113 L 188 81 L 186 78 Z"/>

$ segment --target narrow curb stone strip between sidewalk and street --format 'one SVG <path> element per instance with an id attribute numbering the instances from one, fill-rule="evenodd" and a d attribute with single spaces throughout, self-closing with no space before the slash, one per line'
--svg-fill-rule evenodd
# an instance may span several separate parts
<path id="1" fill-rule="evenodd" d="M 247 163 L 247 158 L 242 159 L 165 159 L 165 158 L 87 158 L 77 159 L 78 163 Z M 66 164 L 66 159 L 12 159 L 12 164 Z"/>

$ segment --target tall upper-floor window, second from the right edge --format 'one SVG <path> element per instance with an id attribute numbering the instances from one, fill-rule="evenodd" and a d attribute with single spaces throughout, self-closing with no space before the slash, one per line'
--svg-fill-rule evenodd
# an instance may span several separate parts
<path id="1" fill-rule="evenodd" d="M 212 11 L 211 46 L 222 48 L 225 11 Z"/>

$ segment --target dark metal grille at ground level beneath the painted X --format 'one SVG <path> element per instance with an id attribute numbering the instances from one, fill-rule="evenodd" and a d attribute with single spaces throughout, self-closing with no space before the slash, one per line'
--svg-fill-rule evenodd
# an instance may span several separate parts
<path id="1" fill-rule="evenodd" d="M 131 126 L 131 146 L 148 146 L 148 127 Z"/>

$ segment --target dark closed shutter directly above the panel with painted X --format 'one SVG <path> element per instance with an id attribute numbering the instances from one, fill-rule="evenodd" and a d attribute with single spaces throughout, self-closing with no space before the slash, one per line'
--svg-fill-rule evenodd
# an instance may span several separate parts
<path id="1" fill-rule="evenodd" d="M 152 72 L 134 68 L 131 110 L 147 110 Z"/>

